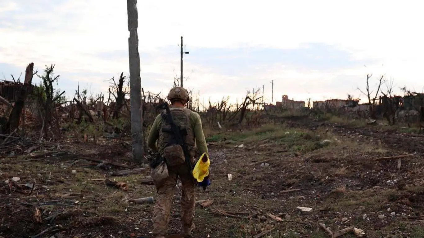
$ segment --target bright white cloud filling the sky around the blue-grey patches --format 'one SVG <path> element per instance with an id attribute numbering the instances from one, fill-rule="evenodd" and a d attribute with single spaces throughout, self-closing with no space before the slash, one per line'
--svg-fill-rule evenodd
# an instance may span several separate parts
<path id="1" fill-rule="evenodd" d="M 25 3 L 26 0 L 0 3 L 1 14 L 25 11 L 19 15 L 21 21 L 40 24 L 28 29 L 27 25 L 8 20 L 3 28 L 0 25 L 1 62 L 22 67 L 33 61 L 39 69 L 53 63 L 61 73 L 102 73 L 111 74 L 111 77 L 122 71 L 128 73 L 127 59 L 95 56 L 128 49 L 125 2 L 64 0 L 58 1 L 50 11 L 34 13 Z M 400 5 L 396 1 L 382 0 L 349 3 L 337 0 L 262 0 L 260 3 L 162 0 L 139 1 L 137 6 L 139 50 L 150 55 L 148 58 L 141 55 L 142 74 L 158 74 L 142 78 L 142 81 L 143 84 L 148 84 L 148 80 L 160 81 L 163 88 L 155 88 L 160 91 L 166 91 L 173 77 L 179 75 L 177 44 L 181 35 L 187 50 L 190 47 L 237 48 L 240 45 L 296 48 L 303 43 L 323 42 L 348 50 L 358 60 L 378 60 L 375 65 L 336 72 L 301 71 L 282 64 L 258 65 L 262 72 L 248 77 L 220 74 L 196 62 L 185 63 L 184 75 L 191 78 L 187 86 L 214 100 L 230 94 L 241 98 L 245 89 L 262 84 L 265 84 L 266 97 L 271 98 L 268 82 L 272 79 L 275 81 L 274 98 L 280 98 L 281 94 L 289 94 L 289 97 L 293 94 L 298 100 L 345 97 L 346 91 L 332 91 L 328 82 L 348 77 L 350 80 L 354 76 L 358 77 L 357 86 L 362 86 L 367 73 L 375 76 L 385 73 L 393 77 L 397 85 L 421 88 L 424 35 L 419 29 L 424 15 L 418 1 L 405 1 Z M 162 51 L 161 47 L 170 45 L 175 46 L 175 52 Z M 105 79 L 100 76 L 69 77 L 69 80 L 94 82 L 102 90 L 107 83 L 99 81 Z M 321 89 L 321 84 L 328 85 L 328 89 Z M 208 94 L 209 89 L 217 87 L 220 90 L 213 89 L 213 95 Z"/>

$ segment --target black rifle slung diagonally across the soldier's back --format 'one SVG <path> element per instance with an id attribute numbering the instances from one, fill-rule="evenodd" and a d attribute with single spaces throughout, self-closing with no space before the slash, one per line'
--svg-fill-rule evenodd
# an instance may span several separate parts
<path id="1" fill-rule="evenodd" d="M 187 129 L 186 130 L 181 129 L 178 125 L 175 124 L 167 102 L 164 102 L 163 104 L 157 106 L 156 109 L 162 109 L 162 110 L 164 109 L 166 111 L 166 122 L 171 125 L 171 130 L 166 130 L 165 128 L 162 128 L 162 130 L 164 132 L 174 134 L 177 144 L 179 144 L 183 148 L 185 163 L 187 165 L 188 170 L 190 171 L 192 180 L 195 181 L 195 183 L 197 183 L 197 181 L 193 177 L 194 166 L 191 163 L 190 154 L 187 150 L 187 146 L 184 143 L 184 139 L 183 139 L 183 136 L 187 136 Z"/>

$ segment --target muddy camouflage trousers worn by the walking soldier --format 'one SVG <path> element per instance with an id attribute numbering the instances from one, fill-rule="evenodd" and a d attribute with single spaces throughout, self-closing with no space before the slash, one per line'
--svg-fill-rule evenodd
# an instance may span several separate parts
<path id="1" fill-rule="evenodd" d="M 160 184 L 153 181 L 158 193 L 153 211 L 153 237 L 166 236 L 170 219 L 171 201 L 175 192 L 178 177 L 181 180 L 181 226 L 184 235 L 190 235 L 194 229 L 193 213 L 195 207 L 195 183 L 185 164 L 178 167 L 168 167 L 169 177 Z"/>

